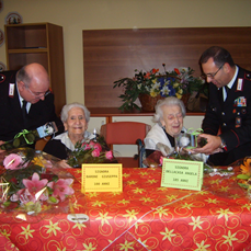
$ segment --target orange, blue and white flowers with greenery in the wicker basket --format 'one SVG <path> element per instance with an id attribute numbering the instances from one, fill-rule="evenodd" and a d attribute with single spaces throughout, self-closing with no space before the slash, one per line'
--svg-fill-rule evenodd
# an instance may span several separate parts
<path id="1" fill-rule="evenodd" d="M 166 67 L 164 64 L 162 66 Z M 162 73 L 155 68 L 147 72 L 136 69 L 133 78 L 122 78 L 114 81 L 113 88 L 122 87 L 124 89 L 124 94 L 118 96 L 124 102 L 119 110 L 140 110 L 135 102 L 142 94 L 148 94 L 151 98 L 176 96 L 182 99 L 186 93 L 199 91 L 205 81 L 194 77 L 193 73 L 194 70 L 190 67 L 174 68 L 171 71 L 167 71 L 164 68 Z"/>

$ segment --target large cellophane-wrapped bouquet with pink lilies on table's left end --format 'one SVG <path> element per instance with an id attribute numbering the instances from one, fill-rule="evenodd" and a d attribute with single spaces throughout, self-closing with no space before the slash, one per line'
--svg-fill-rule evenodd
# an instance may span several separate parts
<path id="1" fill-rule="evenodd" d="M 31 148 L 0 153 L 0 208 L 2 212 L 72 213 L 76 193 L 72 174 L 60 168 L 59 159 Z"/>

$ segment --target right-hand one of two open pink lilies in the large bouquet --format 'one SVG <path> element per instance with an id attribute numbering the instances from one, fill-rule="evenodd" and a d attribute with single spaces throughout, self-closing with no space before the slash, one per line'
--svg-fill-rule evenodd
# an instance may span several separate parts
<path id="1" fill-rule="evenodd" d="M 64 202 L 66 195 L 72 195 L 75 193 L 70 184 L 73 182 L 73 179 L 59 179 L 57 182 L 49 182 L 48 186 L 54 190 L 53 196 L 60 197 Z"/>

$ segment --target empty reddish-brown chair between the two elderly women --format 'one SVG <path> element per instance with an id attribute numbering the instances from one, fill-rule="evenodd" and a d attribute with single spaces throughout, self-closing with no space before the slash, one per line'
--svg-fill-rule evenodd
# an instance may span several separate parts
<path id="1" fill-rule="evenodd" d="M 138 145 L 138 158 L 118 157 L 116 158 L 124 168 L 141 168 L 144 138 L 150 130 L 151 126 L 138 122 L 114 122 L 101 126 L 100 134 L 104 136 L 109 147 L 113 149 L 113 145 Z"/>

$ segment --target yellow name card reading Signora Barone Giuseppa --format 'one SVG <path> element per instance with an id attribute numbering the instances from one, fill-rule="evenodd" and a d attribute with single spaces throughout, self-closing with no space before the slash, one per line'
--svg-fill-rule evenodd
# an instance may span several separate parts
<path id="1" fill-rule="evenodd" d="M 122 192 L 122 164 L 82 164 L 82 193 Z"/>

